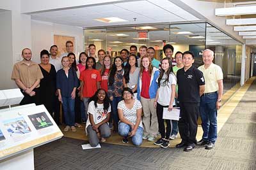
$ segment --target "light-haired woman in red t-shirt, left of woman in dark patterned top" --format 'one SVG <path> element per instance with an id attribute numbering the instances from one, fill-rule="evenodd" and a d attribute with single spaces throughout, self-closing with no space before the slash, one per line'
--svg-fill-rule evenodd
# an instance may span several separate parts
<path id="1" fill-rule="evenodd" d="M 111 57 L 105 56 L 103 59 L 102 68 L 100 69 L 101 81 L 100 88 L 106 90 L 108 92 L 108 75 L 109 69 L 112 66 Z"/>

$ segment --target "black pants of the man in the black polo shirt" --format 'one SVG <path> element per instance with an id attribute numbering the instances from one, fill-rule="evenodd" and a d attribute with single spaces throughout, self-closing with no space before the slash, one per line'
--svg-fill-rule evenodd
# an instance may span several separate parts
<path id="1" fill-rule="evenodd" d="M 186 145 L 196 144 L 198 103 L 180 102 L 179 132 L 182 142 Z"/>

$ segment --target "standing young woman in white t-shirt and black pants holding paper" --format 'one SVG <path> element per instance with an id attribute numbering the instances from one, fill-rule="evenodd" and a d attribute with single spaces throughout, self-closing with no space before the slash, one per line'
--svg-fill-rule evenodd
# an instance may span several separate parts
<path id="1" fill-rule="evenodd" d="M 163 108 L 172 111 L 175 105 L 175 87 L 177 79 L 172 69 L 172 59 L 166 57 L 161 62 L 161 72 L 157 80 L 159 89 L 157 90 L 154 106 L 156 107 L 157 120 L 161 138 L 154 144 L 162 148 L 168 148 L 170 145 L 169 138 L 172 131 L 171 120 L 165 120 L 166 129 L 164 127 Z"/>

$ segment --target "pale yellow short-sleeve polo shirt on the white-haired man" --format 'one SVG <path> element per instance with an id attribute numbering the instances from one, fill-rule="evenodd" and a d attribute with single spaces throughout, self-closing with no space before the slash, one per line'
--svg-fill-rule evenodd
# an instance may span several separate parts
<path id="1" fill-rule="evenodd" d="M 218 91 L 218 80 L 223 80 L 223 72 L 221 67 L 212 63 L 207 69 L 205 69 L 204 65 L 198 67 L 198 69 L 204 74 L 205 93 Z"/>

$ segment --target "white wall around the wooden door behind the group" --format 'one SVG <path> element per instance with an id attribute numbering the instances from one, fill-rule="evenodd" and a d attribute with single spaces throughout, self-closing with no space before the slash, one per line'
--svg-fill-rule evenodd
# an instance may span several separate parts
<path id="1" fill-rule="evenodd" d="M 33 53 L 32 59 L 35 62 L 40 62 L 41 50 L 49 50 L 51 45 L 53 45 L 54 34 L 74 36 L 76 41 L 75 53 L 78 54 L 84 51 L 84 35 L 82 28 L 31 20 L 31 44 Z"/>

